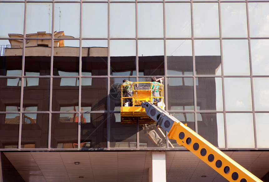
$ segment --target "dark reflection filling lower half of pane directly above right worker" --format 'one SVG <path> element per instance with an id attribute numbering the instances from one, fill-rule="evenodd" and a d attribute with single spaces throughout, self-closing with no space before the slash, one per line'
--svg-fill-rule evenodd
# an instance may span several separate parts
<path id="1" fill-rule="evenodd" d="M 138 57 L 139 75 L 164 75 L 164 56 L 140 56 Z"/>

